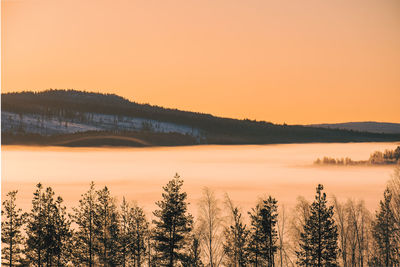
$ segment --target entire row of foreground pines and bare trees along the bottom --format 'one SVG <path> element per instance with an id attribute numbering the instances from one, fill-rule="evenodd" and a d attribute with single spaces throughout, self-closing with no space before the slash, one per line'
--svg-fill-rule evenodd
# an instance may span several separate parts
<path id="1" fill-rule="evenodd" d="M 228 195 L 221 203 L 205 188 L 194 220 L 182 185 L 176 174 L 163 187 L 151 222 L 93 182 L 71 214 L 51 187 L 36 186 L 30 212 L 11 191 L 2 203 L 2 265 L 400 266 L 400 168 L 375 216 L 362 201 L 329 204 L 320 184 L 289 220 L 275 198 L 260 199 L 249 224 Z"/>

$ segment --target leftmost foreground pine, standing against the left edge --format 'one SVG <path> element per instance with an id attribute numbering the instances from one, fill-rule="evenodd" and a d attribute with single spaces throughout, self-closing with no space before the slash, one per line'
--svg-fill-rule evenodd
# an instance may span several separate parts
<path id="1" fill-rule="evenodd" d="M 17 266 L 21 264 L 21 246 L 23 237 L 21 228 L 25 223 L 26 214 L 16 206 L 16 195 L 18 191 L 9 192 L 3 201 L 1 210 L 1 243 L 2 243 L 2 265 Z"/>

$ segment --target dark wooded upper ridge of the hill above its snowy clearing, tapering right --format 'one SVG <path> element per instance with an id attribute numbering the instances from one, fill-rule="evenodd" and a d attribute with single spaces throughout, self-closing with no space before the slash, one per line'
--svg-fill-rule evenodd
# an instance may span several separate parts
<path id="1" fill-rule="evenodd" d="M 397 134 L 376 134 L 339 129 L 277 125 L 265 121 L 237 120 L 210 114 L 138 104 L 114 94 L 76 90 L 6 93 L 2 110 L 44 117 L 86 120 L 84 113 L 130 116 L 187 125 L 205 131 L 208 143 L 287 143 L 399 140 Z"/>

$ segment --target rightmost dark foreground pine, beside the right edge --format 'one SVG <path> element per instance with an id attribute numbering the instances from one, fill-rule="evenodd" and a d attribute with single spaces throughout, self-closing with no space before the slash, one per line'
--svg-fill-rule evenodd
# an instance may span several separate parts
<path id="1" fill-rule="evenodd" d="M 373 237 L 377 244 L 376 264 L 384 266 L 398 266 L 400 240 L 397 239 L 395 218 L 391 209 L 392 194 L 389 189 L 384 192 L 384 200 L 380 201 L 380 210 L 376 214 L 373 224 Z"/>

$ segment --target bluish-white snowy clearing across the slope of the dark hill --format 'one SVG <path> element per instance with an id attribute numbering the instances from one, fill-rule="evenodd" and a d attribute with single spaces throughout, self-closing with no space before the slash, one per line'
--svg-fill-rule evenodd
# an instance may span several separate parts
<path id="1" fill-rule="evenodd" d="M 81 117 L 82 119 L 67 119 L 38 114 L 19 115 L 2 111 L 1 130 L 2 132 L 38 133 L 42 135 L 101 130 L 148 130 L 164 133 L 176 132 L 200 137 L 200 131 L 197 128 L 175 123 L 98 113 L 84 113 Z"/>

